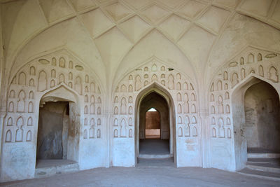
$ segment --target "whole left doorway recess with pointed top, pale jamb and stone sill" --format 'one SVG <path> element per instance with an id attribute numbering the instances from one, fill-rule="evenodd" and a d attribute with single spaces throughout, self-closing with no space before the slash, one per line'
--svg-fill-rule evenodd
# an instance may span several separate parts
<path id="1" fill-rule="evenodd" d="M 76 94 L 59 86 L 40 100 L 36 141 L 36 177 L 78 170 L 79 120 Z M 50 169 L 51 168 L 51 169 Z"/>

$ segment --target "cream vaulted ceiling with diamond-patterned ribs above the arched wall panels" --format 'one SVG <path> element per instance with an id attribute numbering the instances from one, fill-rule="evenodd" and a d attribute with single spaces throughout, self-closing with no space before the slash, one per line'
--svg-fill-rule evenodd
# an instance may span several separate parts
<path id="1" fill-rule="evenodd" d="M 103 83 L 151 57 L 207 80 L 245 46 L 280 50 L 278 0 L 3 0 L 1 17 L 8 70 L 66 48 Z"/>

